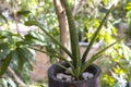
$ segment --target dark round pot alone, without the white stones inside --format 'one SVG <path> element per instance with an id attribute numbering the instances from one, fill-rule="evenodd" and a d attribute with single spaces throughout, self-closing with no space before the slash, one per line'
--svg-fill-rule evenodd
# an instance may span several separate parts
<path id="1" fill-rule="evenodd" d="M 66 66 L 68 67 L 67 64 Z M 100 69 L 92 64 L 86 71 L 93 73 L 94 77 L 86 80 L 64 82 L 56 77 L 57 73 L 62 73 L 64 70 L 55 64 L 48 70 L 48 87 L 100 87 Z"/>

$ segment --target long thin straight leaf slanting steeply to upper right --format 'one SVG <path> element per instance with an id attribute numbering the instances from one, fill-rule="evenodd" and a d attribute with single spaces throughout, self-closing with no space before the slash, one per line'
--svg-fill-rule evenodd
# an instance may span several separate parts
<path id="1" fill-rule="evenodd" d="M 93 38 L 91 39 L 91 42 L 90 42 L 90 45 L 87 46 L 87 48 L 86 48 L 86 50 L 85 50 L 85 52 L 84 52 L 84 54 L 83 54 L 83 57 L 82 57 L 82 62 L 83 62 L 83 63 L 85 62 L 85 59 L 86 59 L 86 57 L 87 57 L 87 54 L 88 54 L 88 52 L 90 52 L 90 49 L 91 49 L 92 46 L 94 45 L 94 41 L 95 41 L 95 39 L 97 38 L 97 35 L 98 35 L 98 33 L 100 32 L 100 29 L 102 29 L 105 21 L 107 20 L 109 13 L 111 12 L 112 8 L 114 8 L 114 5 L 108 10 L 108 12 L 106 13 L 106 15 L 105 15 L 104 20 L 102 21 L 100 25 L 98 26 L 98 28 L 97 28 L 96 32 L 94 33 Z"/>

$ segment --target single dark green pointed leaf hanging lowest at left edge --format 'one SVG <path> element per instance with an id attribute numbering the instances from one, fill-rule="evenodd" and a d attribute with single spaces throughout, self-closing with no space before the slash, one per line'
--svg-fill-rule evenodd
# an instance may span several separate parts
<path id="1" fill-rule="evenodd" d="M 5 73 L 5 71 L 11 62 L 11 59 L 12 59 L 12 51 L 2 61 L 1 69 L 0 69 L 0 77 Z"/>

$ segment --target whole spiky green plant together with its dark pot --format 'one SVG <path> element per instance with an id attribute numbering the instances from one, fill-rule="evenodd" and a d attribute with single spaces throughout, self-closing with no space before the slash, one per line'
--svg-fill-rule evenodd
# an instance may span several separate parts
<path id="1" fill-rule="evenodd" d="M 114 44 L 110 44 L 109 46 L 105 47 L 100 51 L 94 53 L 87 61 L 86 61 L 86 57 L 88 55 L 88 52 L 90 52 L 91 48 L 93 47 L 93 45 L 96 40 L 96 37 L 97 37 L 99 30 L 102 29 L 103 24 L 105 23 L 106 18 L 108 17 L 112 7 L 106 13 L 104 20 L 100 22 L 98 28 L 94 33 L 94 36 L 93 36 L 92 40 L 90 41 L 85 52 L 81 57 L 79 38 L 78 38 L 79 36 L 78 36 L 78 33 L 75 29 L 75 24 L 74 24 L 74 20 L 72 16 L 72 12 L 69 7 L 68 0 L 62 0 L 62 1 L 63 1 L 63 5 L 66 9 L 66 14 L 68 17 L 68 23 L 69 23 L 69 28 L 70 28 L 69 30 L 70 30 L 70 39 L 71 39 L 71 52 L 64 46 L 62 46 L 61 42 L 56 40 L 45 29 L 45 26 L 43 24 L 40 24 L 39 22 L 28 21 L 25 23 L 25 25 L 27 25 L 27 26 L 36 25 L 39 28 L 41 28 L 41 30 L 52 40 L 52 42 L 58 45 L 60 47 L 60 49 L 62 49 L 70 57 L 71 60 L 69 61 L 59 51 L 56 51 L 53 49 L 52 49 L 53 52 L 50 53 L 50 52 L 43 51 L 37 48 L 33 48 L 33 47 L 31 47 L 31 48 L 41 51 L 44 53 L 48 53 L 49 55 L 53 55 L 60 60 L 59 63 L 53 64 L 48 70 L 49 87 L 100 87 L 100 85 L 97 84 L 99 80 L 100 69 L 97 65 L 93 64 L 93 62 L 96 59 L 100 58 L 103 55 L 103 52 L 105 50 L 107 50 L 108 48 L 110 48 L 111 46 L 114 46 L 117 41 Z M 36 38 L 36 37 L 35 37 L 35 39 L 38 40 L 38 38 Z M 83 74 L 85 72 L 92 73 L 91 78 L 84 78 Z M 61 74 L 61 73 L 66 76 L 68 75 L 68 77 L 69 78 L 71 77 L 71 79 L 69 79 L 69 80 L 68 80 L 68 78 L 64 79 L 64 76 L 59 77 L 58 74 Z"/>

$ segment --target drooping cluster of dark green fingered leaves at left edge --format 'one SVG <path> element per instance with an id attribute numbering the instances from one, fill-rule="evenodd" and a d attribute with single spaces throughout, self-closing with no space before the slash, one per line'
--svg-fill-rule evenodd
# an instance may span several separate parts
<path id="1" fill-rule="evenodd" d="M 1 30 L 0 76 L 4 74 L 11 62 L 16 64 L 16 69 L 20 71 L 23 70 L 25 63 L 27 63 L 32 67 L 31 61 L 35 62 L 34 54 L 32 52 L 32 49 L 27 48 L 27 45 L 23 44 L 22 41 L 23 37 L 21 37 L 20 35 L 13 34 L 9 30 Z"/>

